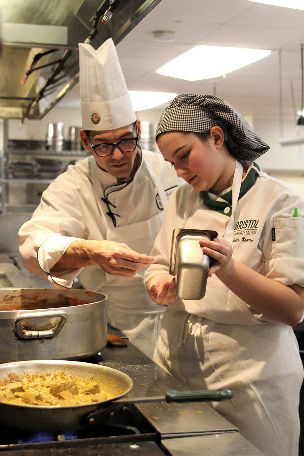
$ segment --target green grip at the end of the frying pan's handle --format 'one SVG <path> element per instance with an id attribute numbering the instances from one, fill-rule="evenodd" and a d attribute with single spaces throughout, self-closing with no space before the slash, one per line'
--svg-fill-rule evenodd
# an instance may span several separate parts
<path id="1" fill-rule="evenodd" d="M 175 391 L 172 389 L 166 393 L 166 402 L 222 401 L 232 397 L 232 391 L 226 388 L 199 391 Z"/>

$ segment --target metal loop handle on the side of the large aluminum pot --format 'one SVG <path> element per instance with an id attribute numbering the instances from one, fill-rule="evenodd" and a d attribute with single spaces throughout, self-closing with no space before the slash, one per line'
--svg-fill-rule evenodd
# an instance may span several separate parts
<path id="1" fill-rule="evenodd" d="M 60 318 L 57 325 L 51 329 L 46 330 L 33 330 L 33 331 L 26 331 L 23 326 L 22 322 L 24 320 L 35 320 L 37 318 Z M 67 321 L 67 312 L 65 311 L 50 311 L 50 312 L 35 312 L 35 313 L 23 313 L 18 315 L 15 319 L 15 332 L 18 337 L 21 339 L 46 339 L 54 337 L 62 330 L 63 325 Z M 32 322 L 33 324 L 33 322 Z"/>

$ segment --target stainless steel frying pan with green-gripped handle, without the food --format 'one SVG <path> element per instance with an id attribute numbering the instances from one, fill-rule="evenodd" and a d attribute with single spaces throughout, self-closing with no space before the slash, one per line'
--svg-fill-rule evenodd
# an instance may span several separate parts
<path id="1" fill-rule="evenodd" d="M 0 364 L 0 383 L 9 374 L 58 373 L 80 376 L 103 384 L 104 391 L 115 395 L 113 399 L 81 405 L 40 406 L 7 404 L 0 402 L 0 423 L 26 430 L 69 430 L 80 429 L 102 422 L 111 411 L 117 411 L 124 404 L 166 401 L 221 401 L 233 396 L 229 389 L 202 391 L 169 391 L 165 396 L 146 398 L 124 398 L 133 387 L 132 379 L 125 373 L 99 364 L 80 361 L 17 361 Z"/>

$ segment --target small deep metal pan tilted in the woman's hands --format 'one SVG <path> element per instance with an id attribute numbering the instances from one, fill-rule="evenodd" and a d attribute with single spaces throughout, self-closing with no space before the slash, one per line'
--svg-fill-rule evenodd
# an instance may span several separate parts
<path id="1" fill-rule="evenodd" d="M 175 228 L 172 233 L 169 273 L 176 278 L 176 294 L 197 301 L 206 293 L 209 257 L 202 253 L 199 240 L 212 240 L 216 231 Z"/>

